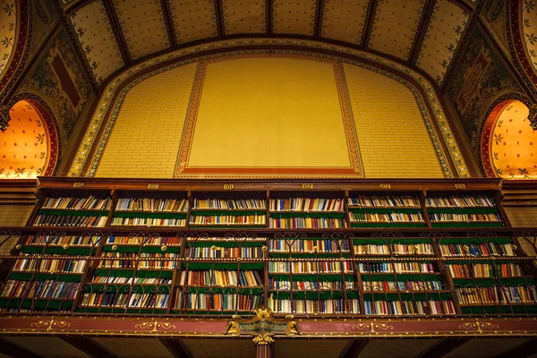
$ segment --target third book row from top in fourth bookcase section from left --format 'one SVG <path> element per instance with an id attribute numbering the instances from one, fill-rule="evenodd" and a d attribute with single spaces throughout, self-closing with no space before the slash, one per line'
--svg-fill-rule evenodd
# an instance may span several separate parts
<path id="1" fill-rule="evenodd" d="M 268 251 L 281 252 L 339 252 L 349 251 L 347 240 L 268 240 Z"/>

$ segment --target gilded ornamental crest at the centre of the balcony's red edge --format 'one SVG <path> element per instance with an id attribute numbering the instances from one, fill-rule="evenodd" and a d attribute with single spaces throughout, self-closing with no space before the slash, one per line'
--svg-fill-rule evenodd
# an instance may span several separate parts
<path id="1" fill-rule="evenodd" d="M 255 310 L 255 316 L 251 319 L 243 319 L 239 315 L 234 315 L 233 320 L 227 323 L 224 334 L 253 336 L 253 343 L 256 345 L 269 345 L 274 342 L 272 336 L 300 335 L 300 331 L 292 314 L 286 315 L 284 319 L 277 319 L 272 316 L 272 310 L 260 306 Z"/>

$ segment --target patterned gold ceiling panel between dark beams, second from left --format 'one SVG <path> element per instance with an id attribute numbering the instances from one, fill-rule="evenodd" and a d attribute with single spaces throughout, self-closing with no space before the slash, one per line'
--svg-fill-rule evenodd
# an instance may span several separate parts
<path id="1" fill-rule="evenodd" d="M 160 0 L 112 0 L 132 59 L 170 47 Z"/>

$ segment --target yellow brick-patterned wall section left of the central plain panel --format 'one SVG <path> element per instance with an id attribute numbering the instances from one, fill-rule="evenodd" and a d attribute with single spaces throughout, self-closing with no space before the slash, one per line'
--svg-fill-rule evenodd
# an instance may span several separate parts
<path id="1" fill-rule="evenodd" d="M 196 66 L 160 73 L 127 93 L 96 176 L 172 177 Z"/>

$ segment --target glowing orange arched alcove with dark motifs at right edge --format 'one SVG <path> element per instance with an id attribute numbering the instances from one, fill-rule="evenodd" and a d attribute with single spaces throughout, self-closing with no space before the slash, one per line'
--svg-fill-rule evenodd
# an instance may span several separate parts
<path id="1" fill-rule="evenodd" d="M 482 134 L 487 176 L 537 179 L 537 131 L 529 124 L 529 112 L 516 99 L 506 99 L 490 112 Z"/>

